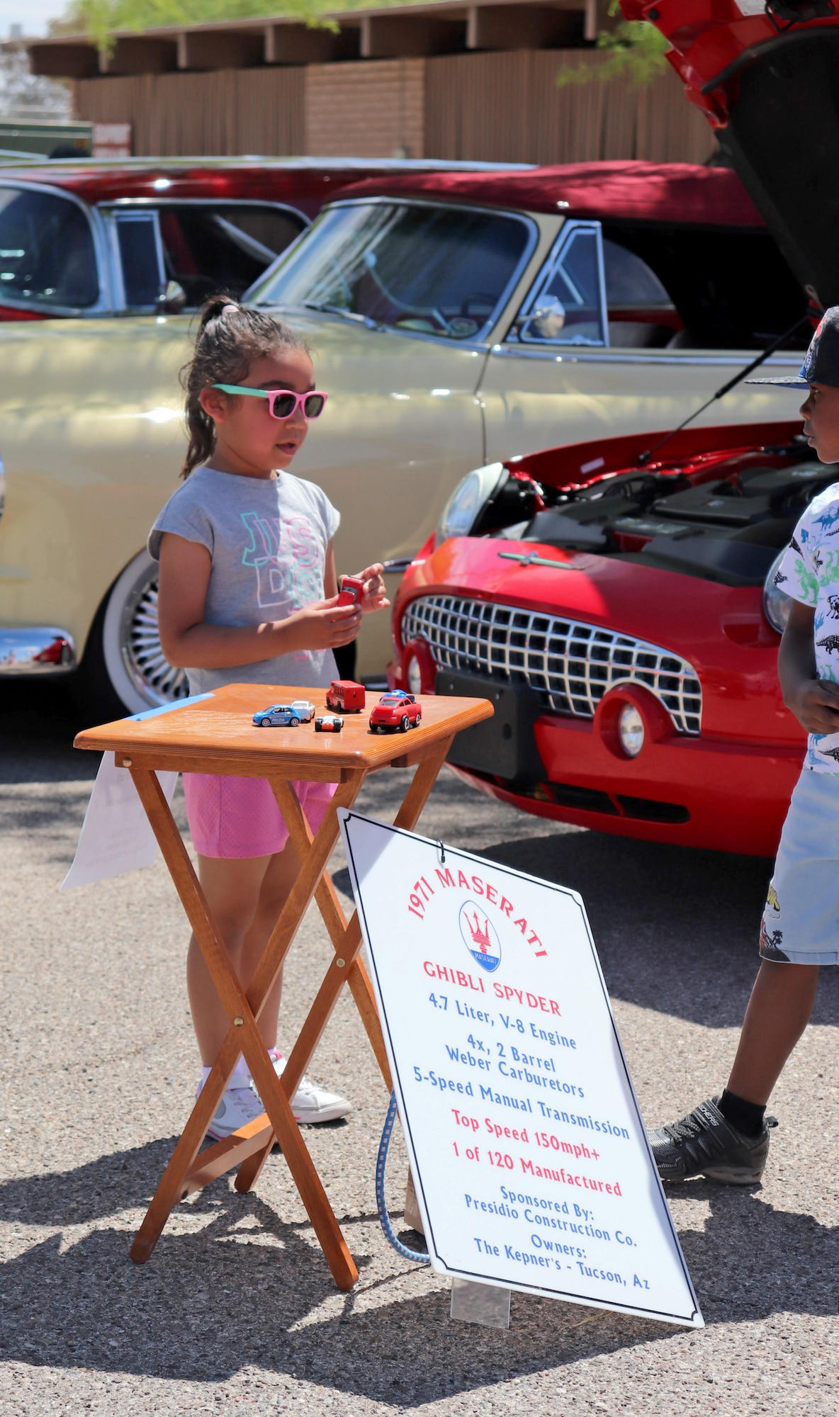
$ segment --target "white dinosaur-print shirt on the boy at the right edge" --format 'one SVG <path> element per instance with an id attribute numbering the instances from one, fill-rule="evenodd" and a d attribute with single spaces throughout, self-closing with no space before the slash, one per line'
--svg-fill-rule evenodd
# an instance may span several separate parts
<path id="1" fill-rule="evenodd" d="M 813 497 L 801 517 L 775 585 L 813 606 L 816 673 L 839 683 L 839 482 Z M 805 767 L 839 772 L 839 733 L 811 733 Z"/>

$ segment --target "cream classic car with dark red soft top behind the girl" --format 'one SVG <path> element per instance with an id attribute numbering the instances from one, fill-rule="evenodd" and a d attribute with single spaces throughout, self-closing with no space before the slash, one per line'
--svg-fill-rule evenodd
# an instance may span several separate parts
<path id="1" fill-rule="evenodd" d="M 295 472 L 342 512 L 339 570 L 394 575 L 469 469 L 672 428 L 805 310 L 733 173 L 648 163 L 373 179 L 248 299 L 302 329 L 330 394 Z M 0 326 L 0 670 L 81 665 L 130 711 L 186 691 L 143 547 L 177 485 L 188 323 Z M 798 368 L 806 330 L 789 343 L 772 363 Z M 740 387 L 713 421 L 795 408 Z M 376 683 L 388 652 L 370 616 L 356 674 Z"/>

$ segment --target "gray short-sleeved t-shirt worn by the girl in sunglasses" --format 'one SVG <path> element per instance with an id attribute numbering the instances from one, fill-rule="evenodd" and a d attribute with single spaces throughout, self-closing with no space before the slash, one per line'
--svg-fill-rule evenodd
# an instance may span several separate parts
<path id="1" fill-rule="evenodd" d="M 241 478 L 197 468 L 169 499 L 149 533 L 149 554 L 160 560 L 163 531 L 200 541 L 213 558 L 204 621 L 262 625 L 322 601 L 326 546 L 339 513 L 313 482 L 279 472 Z M 300 649 L 232 669 L 187 669 L 190 693 L 224 684 L 325 687 L 337 677 L 330 649 Z"/>

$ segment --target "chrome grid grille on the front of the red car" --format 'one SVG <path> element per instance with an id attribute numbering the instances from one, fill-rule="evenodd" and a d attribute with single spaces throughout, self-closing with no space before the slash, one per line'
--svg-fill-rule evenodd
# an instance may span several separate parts
<path id="1" fill-rule="evenodd" d="M 592 718 L 612 684 L 643 684 L 679 733 L 699 733 L 702 686 L 692 665 L 659 645 L 493 601 L 421 595 L 401 621 L 402 643 L 425 639 L 439 669 L 526 683 L 554 713 Z"/>

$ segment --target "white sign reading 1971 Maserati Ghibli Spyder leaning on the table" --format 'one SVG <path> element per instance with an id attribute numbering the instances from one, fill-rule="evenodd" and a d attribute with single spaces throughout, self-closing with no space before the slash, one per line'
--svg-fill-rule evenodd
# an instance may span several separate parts
<path id="1" fill-rule="evenodd" d="M 580 896 L 339 815 L 432 1267 L 700 1328 Z"/>

